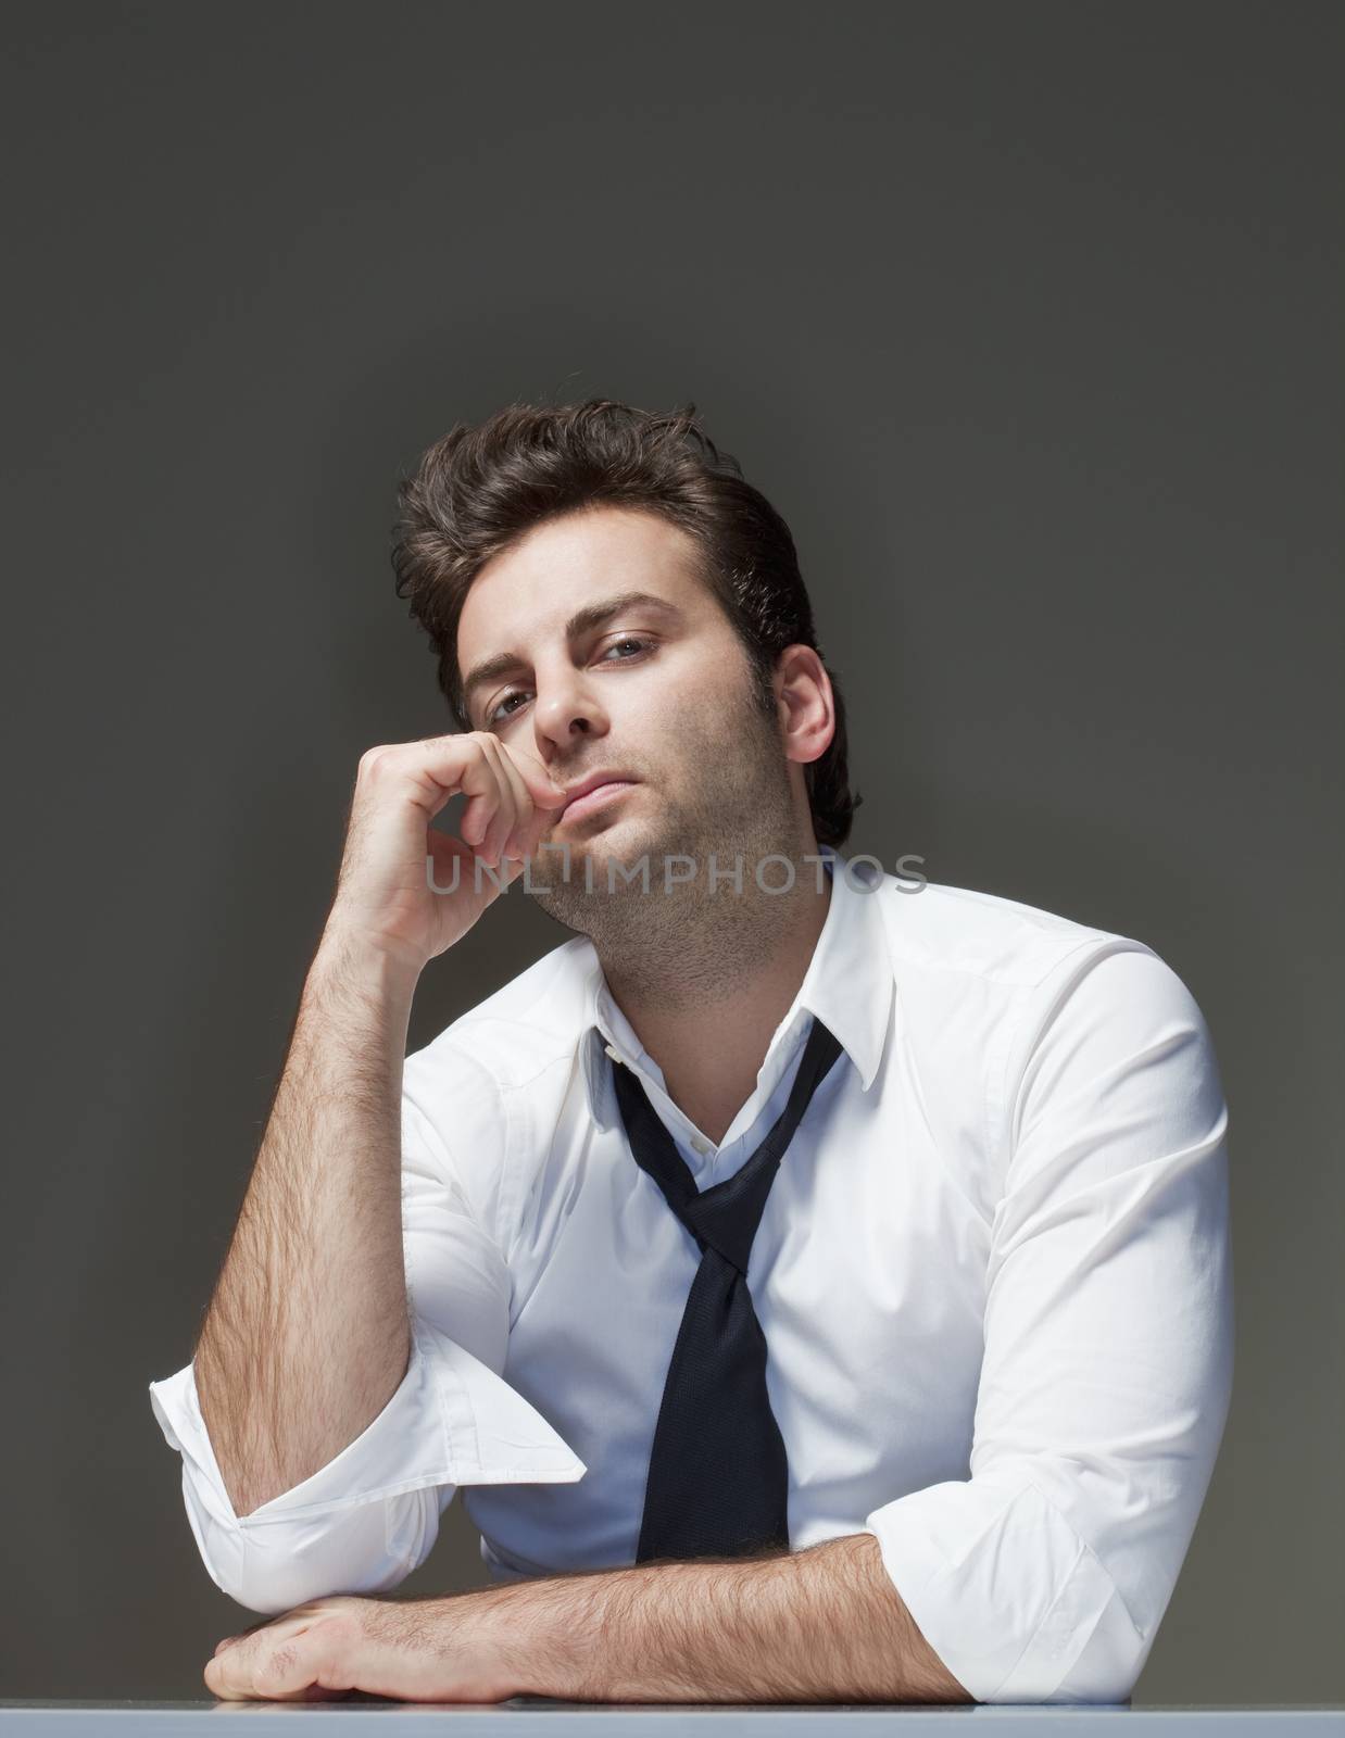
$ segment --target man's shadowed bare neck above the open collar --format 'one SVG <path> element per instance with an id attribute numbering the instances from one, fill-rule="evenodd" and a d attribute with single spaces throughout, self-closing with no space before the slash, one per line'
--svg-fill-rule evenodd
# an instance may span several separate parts
<path id="1" fill-rule="evenodd" d="M 645 932 L 646 945 L 639 935 L 594 942 L 612 999 L 664 1071 L 669 1097 L 714 1145 L 756 1090 L 831 909 L 831 876 L 815 862 L 796 862 L 787 893 L 749 879 L 742 895 L 725 885 L 676 916 L 666 911 L 672 921 Z"/>

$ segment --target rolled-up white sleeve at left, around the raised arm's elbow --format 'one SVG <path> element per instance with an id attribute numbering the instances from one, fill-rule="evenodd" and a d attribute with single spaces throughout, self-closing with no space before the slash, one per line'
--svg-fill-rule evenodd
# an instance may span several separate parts
<path id="1" fill-rule="evenodd" d="M 457 1104 L 466 1131 L 469 1107 Z M 485 1100 L 481 1114 L 488 1111 Z M 509 1272 L 487 1215 L 410 1093 L 401 1100 L 401 1211 L 407 1371 L 379 1416 L 311 1477 L 236 1516 L 193 1364 L 149 1383 L 155 1418 L 182 1456 L 182 1498 L 205 1568 L 252 1611 L 396 1587 L 429 1556 L 459 1484 L 573 1483 L 586 1472 L 500 1376 Z"/>

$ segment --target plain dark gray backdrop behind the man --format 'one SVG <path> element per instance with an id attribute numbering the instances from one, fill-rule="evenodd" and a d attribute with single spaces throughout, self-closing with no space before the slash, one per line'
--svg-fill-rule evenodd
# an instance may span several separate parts
<path id="1" fill-rule="evenodd" d="M 398 474 L 693 400 L 791 521 L 848 855 L 1215 1034 L 1237 1375 L 1135 1700 L 1340 1700 L 1342 9 L 10 9 L 9 1696 L 198 1696 L 189 1356 L 356 761 L 445 726 Z M 450 810 L 448 819 L 455 815 Z M 566 939 L 523 895 L 412 1048 Z M 407 1583 L 481 1580 L 457 1505 Z"/>

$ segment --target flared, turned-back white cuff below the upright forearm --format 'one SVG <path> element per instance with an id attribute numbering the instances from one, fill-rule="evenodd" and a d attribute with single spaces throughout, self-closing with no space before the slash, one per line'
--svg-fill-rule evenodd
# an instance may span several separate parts
<path id="1" fill-rule="evenodd" d="M 426 1486 L 565 1484 L 587 1472 L 507 1382 L 421 1321 L 412 1323 L 407 1373 L 379 1416 L 325 1467 L 242 1517 L 233 1512 L 215 1463 L 193 1366 L 151 1382 L 149 1401 L 214 1519 L 245 1531 Z"/>

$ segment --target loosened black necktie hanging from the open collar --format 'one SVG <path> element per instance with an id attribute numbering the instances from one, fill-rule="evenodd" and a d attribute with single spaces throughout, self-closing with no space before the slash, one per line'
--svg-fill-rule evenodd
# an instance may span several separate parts
<path id="1" fill-rule="evenodd" d="M 839 1051 L 813 1015 L 775 1126 L 739 1171 L 704 1192 L 634 1074 L 613 1060 L 631 1151 L 702 1250 L 667 1366 L 636 1562 L 789 1550 L 789 1462 L 766 1394 L 747 1258 L 785 1147 Z"/>

